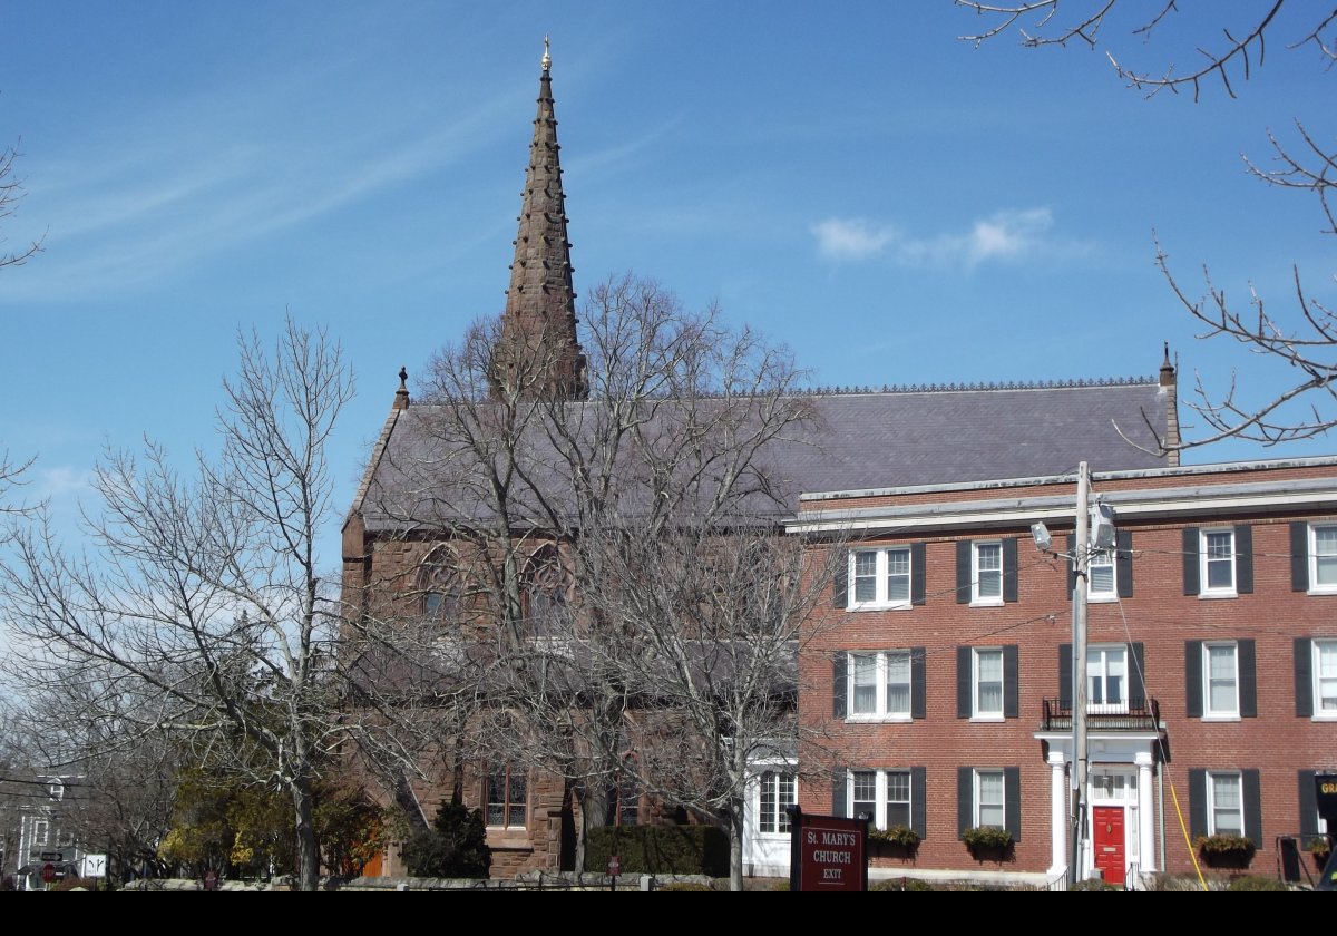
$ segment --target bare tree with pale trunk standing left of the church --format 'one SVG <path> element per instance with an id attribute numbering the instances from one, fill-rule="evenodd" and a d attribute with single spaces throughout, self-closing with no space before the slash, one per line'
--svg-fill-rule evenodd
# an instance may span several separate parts
<path id="1" fill-rule="evenodd" d="M 197 456 L 186 477 L 158 445 L 110 452 L 84 550 L 57 543 L 44 516 L 12 525 L 0 608 L 29 690 L 78 686 L 79 717 L 122 745 L 167 733 L 195 761 L 207 753 L 283 790 L 298 885 L 314 889 L 313 784 L 360 737 L 342 711 L 341 615 L 316 554 L 326 444 L 353 385 L 338 346 L 291 321 L 273 353 L 257 336 L 238 345 L 221 455 Z"/>

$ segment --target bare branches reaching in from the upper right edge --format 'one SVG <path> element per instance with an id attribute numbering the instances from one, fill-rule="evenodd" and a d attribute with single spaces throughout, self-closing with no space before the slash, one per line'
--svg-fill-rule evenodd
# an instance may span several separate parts
<path id="1" fill-rule="evenodd" d="M 963 39 L 980 44 L 1016 28 L 1023 45 L 1043 48 L 1070 44 L 1096 48 L 1108 45 L 1108 33 L 1120 31 L 1143 47 L 1158 31 L 1166 31 L 1171 21 L 1182 16 L 1175 0 L 1162 0 L 1150 7 L 1119 3 L 1118 0 L 1087 0 L 1062 3 L 1060 0 L 1028 0 L 1025 3 L 987 3 L 983 0 L 956 0 L 959 5 L 976 12 L 984 28 Z M 1071 12 L 1071 15 L 1070 15 Z M 1123 19 L 1127 13 L 1128 17 Z M 1293 16 L 1288 16 L 1294 13 Z M 1203 13 L 1197 13 L 1203 16 Z M 1230 98 L 1239 94 L 1239 86 L 1254 68 L 1265 63 L 1267 40 L 1282 36 L 1286 52 L 1310 52 L 1322 70 L 1337 62 L 1337 11 L 1312 5 L 1271 0 L 1257 7 L 1251 19 L 1238 24 L 1231 20 L 1238 11 L 1211 7 L 1205 16 L 1223 23 L 1219 35 L 1206 35 L 1194 49 L 1195 59 L 1187 67 L 1169 62 L 1155 68 L 1142 68 L 1128 63 L 1124 55 L 1111 48 L 1106 57 L 1118 78 L 1147 96 L 1162 91 L 1191 92 L 1197 102 L 1211 87 L 1219 87 Z M 1178 24 L 1175 24 L 1178 25 Z M 1197 24 L 1194 24 L 1197 25 Z M 1314 100 L 1322 100 L 1316 95 Z M 1278 189 L 1310 193 L 1322 213 L 1322 234 L 1337 235 L 1334 195 L 1337 195 L 1337 146 L 1312 134 L 1305 122 L 1294 118 L 1294 139 L 1285 140 L 1267 131 L 1271 166 L 1245 156 L 1247 171 L 1266 185 Z M 1162 452 L 1171 448 L 1193 448 L 1227 437 L 1257 441 L 1263 445 L 1312 439 L 1337 425 L 1337 313 L 1305 285 L 1300 267 L 1293 269 L 1294 306 L 1278 314 L 1263 298 L 1250 290 L 1242 306 L 1227 301 L 1223 289 L 1213 283 L 1203 270 L 1203 294 L 1182 286 L 1170 269 L 1169 255 L 1157 242 L 1157 266 L 1165 275 L 1175 298 L 1203 325 L 1201 338 L 1222 338 L 1238 342 L 1245 350 L 1289 364 L 1293 380 L 1270 393 L 1261 404 L 1250 402 L 1237 393 L 1235 374 L 1226 389 L 1214 390 L 1202 376 L 1197 376 L 1193 408 L 1202 416 L 1203 435 L 1181 440 L 1158 436 Z M 1329 274 L 1332 275 L 1332 274 Z"/>

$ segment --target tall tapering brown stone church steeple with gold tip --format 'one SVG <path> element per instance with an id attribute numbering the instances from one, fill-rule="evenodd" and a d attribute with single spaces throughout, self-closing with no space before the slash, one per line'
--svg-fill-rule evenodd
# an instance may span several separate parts
<path id="1" fill-rule="evenodd" d="M 541 66 L 539 114 L 533 119 L 492 382 L 495 389 L 584 400 L 590 385 L 586 357 L 576 340 L 576 294 L 571 285 L 571 242 L 547 39 Z"/>

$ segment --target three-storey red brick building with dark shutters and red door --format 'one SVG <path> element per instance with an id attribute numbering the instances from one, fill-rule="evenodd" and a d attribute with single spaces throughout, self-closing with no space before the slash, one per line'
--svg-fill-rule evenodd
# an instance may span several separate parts
<path id="1" fill-rule="evenodd" d="M 798 800 L 921 837 L 876 864 L 1064 873 L 1075 484 L 802 496 L 792 532 L 857 544 L 801 662 L 825 686 L 801 718 L 830 730 L 836 769 Z M 1277 837 L 1320 830 L 1313 773 L 1337 766 L 1337 459 L 1100 471 L 1092 493 L 1118 539 L 1087 583 L 1083 868 L 1191 870 L 1182 810 L 1190 838 L 1247 836 L 1271 873 Z M 1012 833 L 1001 860 L 963 844 L 989 825 Z"/>

